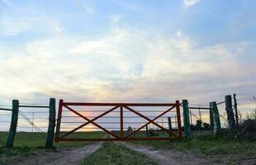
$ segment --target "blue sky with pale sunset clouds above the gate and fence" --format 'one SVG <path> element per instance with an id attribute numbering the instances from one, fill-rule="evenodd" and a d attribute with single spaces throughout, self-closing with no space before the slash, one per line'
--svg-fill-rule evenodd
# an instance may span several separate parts
<path id="1" fill-rule="evenodd" d="M 256 1 L 0 1 L 0 105 L 256 92 Z"/>

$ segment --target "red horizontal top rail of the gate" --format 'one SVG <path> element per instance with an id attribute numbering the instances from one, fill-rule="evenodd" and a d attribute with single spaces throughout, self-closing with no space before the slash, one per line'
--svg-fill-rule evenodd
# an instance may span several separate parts
<path id="1" fill-rule="evenodd" d="M 64 102 L 64 106 L 176 106 L 173 103 L 90 103 Z"/>

